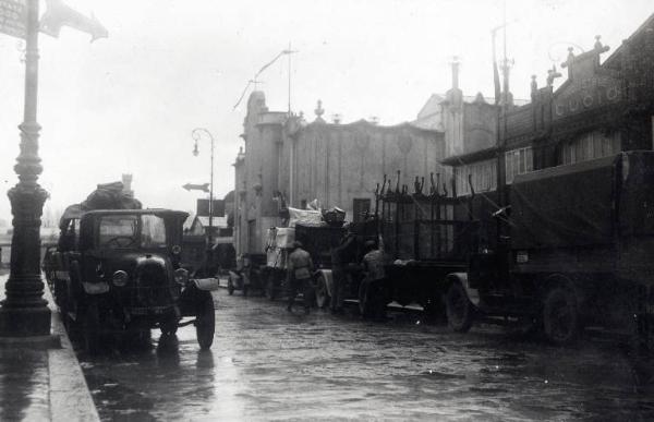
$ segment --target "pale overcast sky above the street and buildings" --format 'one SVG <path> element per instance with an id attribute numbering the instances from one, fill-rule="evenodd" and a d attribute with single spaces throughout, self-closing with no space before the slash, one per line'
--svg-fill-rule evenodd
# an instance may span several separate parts
<path id="1" fill-rule="evenodd" d="M 209 143 L 194 157 L 193 128 L 216 140 L 217 196 L 233 189 L 245 112 L 233 110 L 247 80 L 280 50 L 292 62 L 292 109 L 308 120 L 317 99 L 326 117 L 382 124 L 415 118 L 432 93 L 446 92 L 455 56 L 465 95 L 493 96 L 491 29 L 502 22 L 500 0 L 64 0 L 92 12 L 109 38 L 64 28 L 40 35 L 38 121 L 40 183 L 47 206 L 81 202 L 97 183 L 134 176 L 145 206 L 194 208 L 186 182 L 208 182 Z M 45 10 L 45 5 L 43 7 Z M 530 75 L 545 82 L 567 47 L 591 49 L 595 35 L 608 57 L 654 12 L 652 0 L 508 0 L 511 91 L 529 97 Z M 10 219 L 5 191 L 17 179 L 24 46 L 0 34 L 0 218 Z M 261 76 L 270 110 L 287 109 L 288 63 Z M 559 80 L 559 83 L 562 81 Z"/>

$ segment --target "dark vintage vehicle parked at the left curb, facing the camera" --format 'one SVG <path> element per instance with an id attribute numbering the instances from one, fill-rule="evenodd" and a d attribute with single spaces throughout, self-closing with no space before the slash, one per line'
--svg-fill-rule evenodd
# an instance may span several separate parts
<path id="1" fill-rule="evenodd" d="M 152 328 L 172 335 L 189 324 L 201 348 L 209 348 L 217 279 L 191 279 L 181 267 L 187 214 L 84 208 L 66 208 L 44 270 L 64 323 L 82 331 L 86 349 L 99 351 L 111 335 L 147 339 Z"/>

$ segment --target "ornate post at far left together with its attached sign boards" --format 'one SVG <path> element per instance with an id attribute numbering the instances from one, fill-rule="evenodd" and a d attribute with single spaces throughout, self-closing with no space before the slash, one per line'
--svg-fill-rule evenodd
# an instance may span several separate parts
<path id="1" fill-rule="evenodd" d="M 97 21 L 92 22 L 93 25 L 83 25 L 81 15 L 64 7 L 61 0 L 51 0 L 47 4 L 51 27 L 94 28 L 94 39 L 106 36 L 106 31 L 98 33 Z M 21 153 L 14 166 L 19 183 L 8 192 L 13 234 L 5 299 L 0 308 L 0 338 L 48 339 L 52 338 L 50 310 L 43 297 L 45 285 L 40 273 L 40 218 L 48 192 L 38 184 L 43 166 L 38 156 L 40 125 L 36 120 L 39 0 L 0 0 L 0 33 L 25 39 L 25 108 L 23 123 L 19 126 Z"/>

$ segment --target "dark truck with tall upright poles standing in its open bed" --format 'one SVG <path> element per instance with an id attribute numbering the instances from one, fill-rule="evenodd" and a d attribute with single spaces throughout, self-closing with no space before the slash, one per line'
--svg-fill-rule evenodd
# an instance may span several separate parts
<path id="1" fill-rule="evenodd" d="M 432 174 L 428 193 L 423 193 L 424 179 L 416 180 L 410 193 L 399 184 L 400 176 L 395 189 L 385 178 L 375 192 L 375 214 L 351 227 L 356 236 L 355 263 L 361 262 L 366 241 L 379 241 L 386 278 L 375 286 L 362 282 L 365 275 L 353 265 L 347 272 L 347 298 L 358 301 L 362 315 L 383 316 L 391 302 L 420 304 L 431 316 L 443 315 L 447 275 L 467 268 L 477 249 L 479 221 L 472 219 L 470 198 L 448 195 L 439 177 L 435 181 Z M 456 208 L 469 210 L 469 218 L 456 219 Z M 318 277 L 318 303 L 323 290 L 327 298 L 331 294 L 330 273 Z"/>

